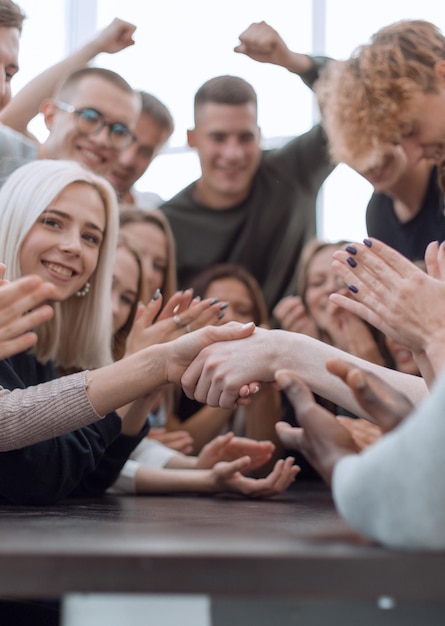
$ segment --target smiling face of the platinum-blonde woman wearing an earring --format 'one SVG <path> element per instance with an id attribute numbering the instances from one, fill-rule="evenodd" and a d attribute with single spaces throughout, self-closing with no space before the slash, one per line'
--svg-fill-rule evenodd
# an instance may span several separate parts
<path id="1" fill-rule="evenodd" d="M 99 192 L 87 183 L 68 185 L 27 234 L 20 250 L 22 275 L 53 283 L 54 300 L 66 300 L 96 269 L 105 225 Z"/>

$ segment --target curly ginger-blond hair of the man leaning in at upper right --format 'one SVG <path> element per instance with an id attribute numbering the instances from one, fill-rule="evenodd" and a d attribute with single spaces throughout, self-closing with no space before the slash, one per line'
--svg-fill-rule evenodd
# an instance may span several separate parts
<path id="1" fill-rule="evenodd" d="M 364 171 L 379 166 L 385 145 L 399 144 L 416 118 L 412 101 L 435 93 L 435 64 L 445 37 L 424 20 L 377 31 L 346 61 L 329 63 L 315 86 L 330 153 Z"/>

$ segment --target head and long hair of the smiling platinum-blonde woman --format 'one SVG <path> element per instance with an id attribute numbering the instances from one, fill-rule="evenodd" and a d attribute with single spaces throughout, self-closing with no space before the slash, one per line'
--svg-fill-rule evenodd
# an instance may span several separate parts
<path id="1" fill-rule="evenodd" d="M 56 287 L 54 318 L 38 329 L 38 358 L 55 357 L 58 345 L 58 364 L 66 368 L 79 358 L 89 367 L 111 362 L 107 302 L 118 229 L 111 186 L 72 162 L 40 160 L 10 176 L 0 204 L 6 277 L 32 273 Z M 87 281 L 89 297 L 73 298 Z M 71 340 L 73 334 L 78 341 Z"/>

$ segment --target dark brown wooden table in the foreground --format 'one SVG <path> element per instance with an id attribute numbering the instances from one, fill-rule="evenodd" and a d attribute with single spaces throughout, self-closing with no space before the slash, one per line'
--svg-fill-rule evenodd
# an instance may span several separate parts
<path id="1" fill-rule="evenodd" d="M 358 607 L 361 624 L 367 606 L 380 616 L 406 608 L 408 620 L 419 609 L 422 625 L 436 623 L 425 621 L 425 611 L 443 624 L 445 553 L 373 545 L 348 529 L 317 484 L 296 483 L 264 501 L 107 496 L 42 508 L 1 505 L 0 595 L 82 592 L 205 594 L 213 624 L 237 624 L 242 614 L 239 623 L 250 626 L 246 615 L 255 610 L 260 626 L 275 623 L 261 619 L 283 607 L 290 619 L 296 607 L 309 615 L 311 606 L 331 618 Z M 298 623 L 286 615 L 280 626 Z M 406 619 L 382 623 L 418 623 Z"/>

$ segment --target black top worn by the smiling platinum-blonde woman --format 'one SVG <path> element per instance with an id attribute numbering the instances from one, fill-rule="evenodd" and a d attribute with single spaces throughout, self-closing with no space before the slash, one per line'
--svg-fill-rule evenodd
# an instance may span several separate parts
<path id="1" fill-rule="evenodd" d="M 24 389 L 56 377 L 51 362 L 42 365 L 30 352 L 0 361 L 0 385 L 5 389 Z M 0 498 L 51 504 L 71 495 L 100 495 L 116 480 L 147 430 L 148 425 L 136 437 L 121 435 L 121 420 L 113 412 L 66 435 L 1 452 Z"/>

